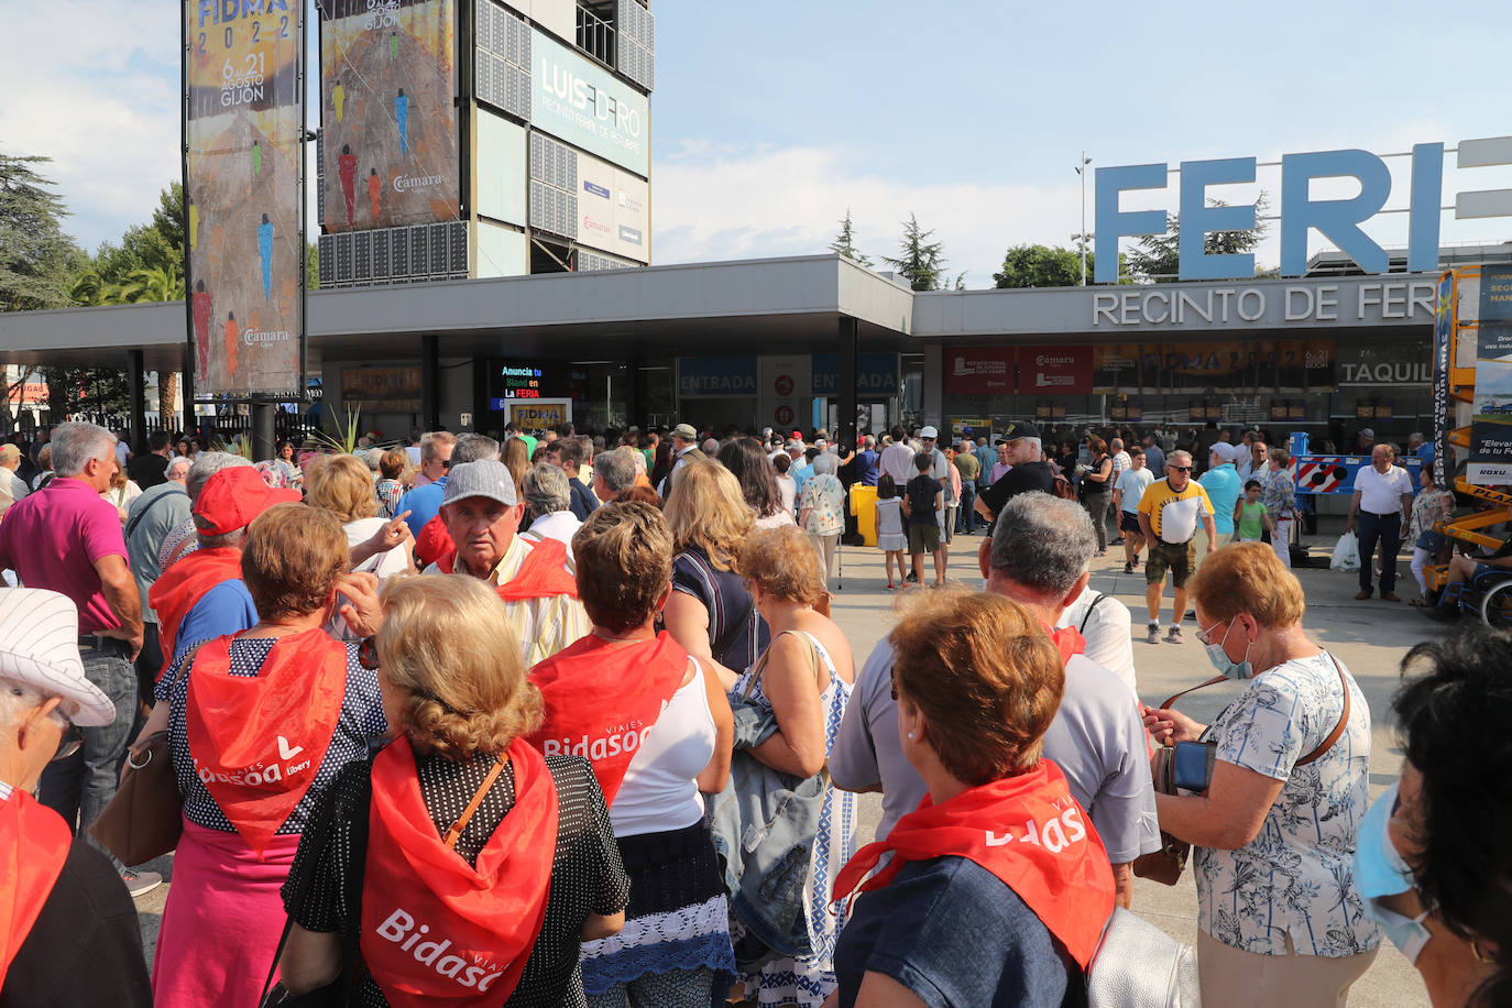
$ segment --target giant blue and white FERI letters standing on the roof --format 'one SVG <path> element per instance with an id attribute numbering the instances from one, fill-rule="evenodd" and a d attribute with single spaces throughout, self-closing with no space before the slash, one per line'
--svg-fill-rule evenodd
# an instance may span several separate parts
<path id="1" fill-rule="evenodd" d="M 1458 168 L 1512 165 L 1512 136 L 1461 141 Z M 1438 269 L 1439 213 L 1444 196 L 1444 145 L 1412 147 L 1411 203 L 1408 210 L 1408 271 Z M 1255 181 L 1256 159 L 1228 157 L 1181 163 L 1179 275 L 1181 280 L 1240 280 L 1255 275 L 1250 252 L 1210 254 L 1204 239 L 1211 231 L 1250 231 L 1255 204 L 1210 207 L 1208 186 Z M 1119 210 L 1119 195 L 1129 189 L 1166 189 L 1167 165 L 1123 165 L 1096 171 L 1096 271 L 1099 284 L 1117 283 L 1119 239 L 1164 234 L 1164 210 Z M 1314 178 L 1353 178 L 1359 193 L 1347 199 L 1314 199 Z M 1383 274 L 1388 255 L 1361 224 L 1382 212 L 1391 195 L 1385 160 L 1362 150 L 1284 154 L 1281 159 L 1281 275 L 1306 272 L 1308 231 L 1317 228 L 1367 274 Z M 1455 218 L 1512 216 L 1512 189 L 1461 192 Z"/>

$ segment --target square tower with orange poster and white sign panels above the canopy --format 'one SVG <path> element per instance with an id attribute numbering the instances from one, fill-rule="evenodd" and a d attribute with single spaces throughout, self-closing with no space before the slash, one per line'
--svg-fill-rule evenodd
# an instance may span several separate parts
<path id="1" fill-rule="evenodd" d="M 641 0 L 318 0 L 321 286 L 650 263 Z"/>

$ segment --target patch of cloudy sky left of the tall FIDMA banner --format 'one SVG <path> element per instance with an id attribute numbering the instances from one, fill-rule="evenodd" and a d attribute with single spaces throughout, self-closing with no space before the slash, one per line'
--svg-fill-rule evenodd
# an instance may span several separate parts
<path id="1" fill-rule="evenodd" d="M 144 222 L 180 175 L 177 3 L 11 5 L 0 60 L 0 150 L 53 159 L 73 219 L 94 249 Z"/>

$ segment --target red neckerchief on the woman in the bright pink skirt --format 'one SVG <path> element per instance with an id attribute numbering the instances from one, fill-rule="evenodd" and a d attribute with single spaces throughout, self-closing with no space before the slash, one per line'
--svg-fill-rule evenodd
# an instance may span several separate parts
<path id="1" fill-rule="evenodd" d="M 257 676 L 231 676 L 231 638 L 200 647 L 184 704 L 189 757 L 257 854 L 314 783 L 345 698 L 346 645 L 324 629 L 274 641 Z"/>

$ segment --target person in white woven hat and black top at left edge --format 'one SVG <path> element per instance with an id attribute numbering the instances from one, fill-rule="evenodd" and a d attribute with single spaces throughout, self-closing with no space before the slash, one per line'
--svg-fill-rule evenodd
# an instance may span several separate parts
<path id="1" fill-rule="evenodd" d="M 0 1003 L 153 1003 L 136 910 L 110 861 L 32 798 L 42 769 L 115 721 L 85 677 L 79 611 L 38 588 L 0 591 Z M 15 866 L 21 869 L 17 870 Z M 88 969 L 59 969 L 59 963 Z"/>

